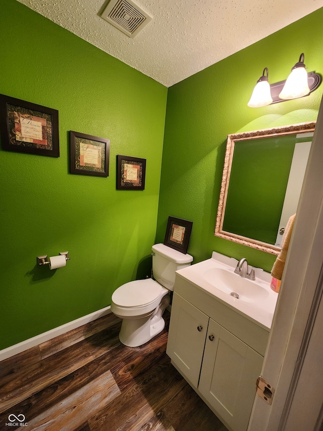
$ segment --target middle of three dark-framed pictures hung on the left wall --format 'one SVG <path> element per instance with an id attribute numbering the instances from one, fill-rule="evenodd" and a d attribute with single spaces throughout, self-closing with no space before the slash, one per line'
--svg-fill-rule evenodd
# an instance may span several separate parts
<path id="1" fill-rule="evenodd" d="M 109 176 L 110 139 L 70 130 L 70 172 Z"/>

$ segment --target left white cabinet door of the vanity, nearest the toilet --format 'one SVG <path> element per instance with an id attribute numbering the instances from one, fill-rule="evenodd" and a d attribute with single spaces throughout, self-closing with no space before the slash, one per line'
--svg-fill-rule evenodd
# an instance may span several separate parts
<path id="1" fill-rule="evenodd" d="M 174 293 L 167 354 L 197 388 L 208 316 Z"/>

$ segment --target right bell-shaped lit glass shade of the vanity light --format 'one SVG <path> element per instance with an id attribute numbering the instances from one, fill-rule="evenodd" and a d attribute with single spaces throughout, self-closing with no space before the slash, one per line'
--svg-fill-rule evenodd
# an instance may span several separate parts
<path id="1" fill-rule="evenodd" d="M 281 99 L 291 100 L 306 96 L 309 92 L 307 72 L 304 64 L 304 53 L 302 53 L 298 63 L 292 68 L 279 97 Z"/>

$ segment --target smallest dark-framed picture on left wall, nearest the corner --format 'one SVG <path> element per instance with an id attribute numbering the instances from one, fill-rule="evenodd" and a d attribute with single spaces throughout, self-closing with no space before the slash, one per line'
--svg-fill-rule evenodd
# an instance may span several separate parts
<path id="1" fill-rule="evenodd" d="M 117 190 L 144 190 L 146 159 L 117 156 Z"/>

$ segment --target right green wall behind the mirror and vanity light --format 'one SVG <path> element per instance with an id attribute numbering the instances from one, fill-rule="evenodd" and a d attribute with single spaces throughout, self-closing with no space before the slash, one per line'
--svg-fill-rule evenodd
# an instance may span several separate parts
<path id="1" fill-rule="evenodd" d="M 302 52 L 323 73 L 323 9 L 172 86 L 168 90 L 157 241 L 169 215 L 193 221 L 188 253 L 198 262 L 217 251 L 270 271 L 274 255 L 215 237 L 227 135 L 317 118 L 323 85 L 303 99 L 263 108 L 247 102 L 264 67 L 286 79 Z M 275 175 L 275 172 L 273 172 Z"/>

